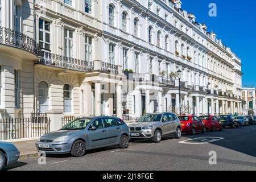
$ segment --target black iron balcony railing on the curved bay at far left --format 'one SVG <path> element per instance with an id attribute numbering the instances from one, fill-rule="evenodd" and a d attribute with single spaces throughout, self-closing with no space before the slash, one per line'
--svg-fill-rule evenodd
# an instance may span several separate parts
<path id="1" fill-rule="evenodd" d="M 0 44 L 24 49 L 37 55 L 37 43 L 34 39 L 16 30 L 0 26 Z"/>

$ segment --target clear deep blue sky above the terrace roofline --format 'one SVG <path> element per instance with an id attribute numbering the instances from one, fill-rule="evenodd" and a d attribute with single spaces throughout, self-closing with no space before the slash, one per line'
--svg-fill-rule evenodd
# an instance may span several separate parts
<path id="1" fill-rule="evenodd" d="M 222 43 L 242 60 L 243 85 L 256 87 L 256 1 L 181 0 L 181 8 L 206 23 Z M 209 4 L 216 3 L 217 17 L 210 17 Z"/>

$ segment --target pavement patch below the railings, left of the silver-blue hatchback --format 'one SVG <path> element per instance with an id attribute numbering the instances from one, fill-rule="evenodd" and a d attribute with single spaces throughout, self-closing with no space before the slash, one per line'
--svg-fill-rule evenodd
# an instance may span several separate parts
<path id="1" fill-rule="evenodd" d="M 36 155 L 38 150 L 36 150 L 36 140 L 27 140 L 21 142 L 12 142 L 20 151 L 20 157 Z"/>

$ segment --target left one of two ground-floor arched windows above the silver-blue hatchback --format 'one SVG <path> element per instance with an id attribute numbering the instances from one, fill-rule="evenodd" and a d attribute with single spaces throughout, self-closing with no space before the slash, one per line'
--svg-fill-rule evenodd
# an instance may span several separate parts
<path id="1" fill-rule="evenodd" d="M 49 86 L 47 82 L 42 81 L 39 83 L 39 111 L 45 113 L 49 110 Z"/>

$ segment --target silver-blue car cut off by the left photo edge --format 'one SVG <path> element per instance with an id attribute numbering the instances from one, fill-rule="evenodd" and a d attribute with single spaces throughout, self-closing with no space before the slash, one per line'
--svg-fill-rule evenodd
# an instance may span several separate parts
<path id="1" fill-rule="evenodd" d="M 0 142 L 0 171 L 3 167 L 16 163 L 19 155 L 20 152 L 14 144 Z"/>

